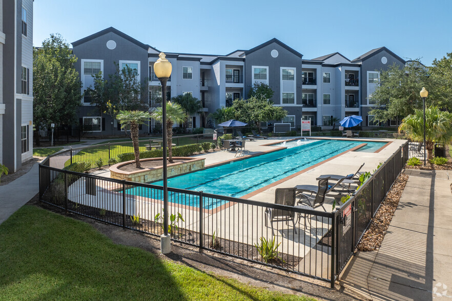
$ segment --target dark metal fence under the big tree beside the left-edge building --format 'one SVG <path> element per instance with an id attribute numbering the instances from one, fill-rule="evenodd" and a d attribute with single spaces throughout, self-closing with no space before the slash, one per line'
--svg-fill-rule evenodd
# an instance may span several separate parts
<path id="1" fill-rule="evenodd" d="M 52 140 L 53 139 L 53 140 Z M 80 129 L 78 127 L 64 126 L 53 130 L 36 130 L 33 132 L 33 146 L 63 145 L 80 141 Z"/>

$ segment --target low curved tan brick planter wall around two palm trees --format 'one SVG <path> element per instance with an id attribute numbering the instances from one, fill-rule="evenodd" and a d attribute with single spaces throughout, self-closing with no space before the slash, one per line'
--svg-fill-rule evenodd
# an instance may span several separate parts
<path id="1" fill-rule="evenodd" d="M 184 160 L 184 161 L 168 164 L 168 166 L 167 166 L 168 177 L 186 174 L 186 173 L 190 173 L 191 171 L 195 171 L 195 170 L 204 168 L 204 158 L 173 157 L 173 159 L 174 160 Z M 155 160 L 161 160 L 161 158 L 141 159 L 140 162 L 155 161 Z M 134 162 L 135 162 L 135 160 L 132 160 L 132 161 L 117 163 L 115 165 L 110 166 L 110 178 L 118 179 L 118 180 L 132 181 L 132 182 L 139 182 L 139 183 L 148 183 L 148 182 L 152 182 L 152 181 L 162 180 L 163 166 L 146 168 L 146 169 L 137 170 L 137 171 L 124 171 L 124 170 L 119 169 L 121 166 L 130 164 L 130 163 L 134 163 Z"/>

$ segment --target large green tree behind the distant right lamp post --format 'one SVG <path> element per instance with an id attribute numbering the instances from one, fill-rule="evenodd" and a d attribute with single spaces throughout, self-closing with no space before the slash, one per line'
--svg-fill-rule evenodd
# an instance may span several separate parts
<path id="1" fill-rule="evenodd" d="M 429 75 L 427 67 L 418 60 L 410 61 L 405 67 L 396 64 L 380 71 L 380 85 L 370 99 L 375 107 L 370 115 L 374 120 L 385 122 L 388 119 L 402 119 L 422 108 L 419 91 L 428 90 L 427 106 L 438 103 L 442 98 L 437 89 L 438 80 Z"/>

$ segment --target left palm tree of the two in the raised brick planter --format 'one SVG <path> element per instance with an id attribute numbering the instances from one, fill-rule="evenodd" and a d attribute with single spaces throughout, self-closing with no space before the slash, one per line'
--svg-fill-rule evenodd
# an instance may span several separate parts
<path id="1" fill-rule="evenodd" d="M 136 168 L 140 168 L 140 147 L 138 144 L 138 126 L 146 124 L 151 115 L 143 111 L 119 111 L 116 119 L 121 122 L 121 128 L 126 129 L 130 125 L 130 136 L 132 137 L 133 150 L 135 153 Z"/>

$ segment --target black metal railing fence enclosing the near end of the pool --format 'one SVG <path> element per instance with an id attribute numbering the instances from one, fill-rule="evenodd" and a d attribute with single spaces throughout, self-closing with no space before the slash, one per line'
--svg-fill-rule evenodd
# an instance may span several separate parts
<path id="1" fill-rule="evenodd" d="M 72 155 L 73 160 L 78 154 Z M 407 156 L 404 144 L 334 212 L 169 187 L 171 238 L 199 249 L 320 278 L 333 286 Z M 40 201 L 121 227 L 162 234 L 161 186 L 63 170 L 70 157 L 68 150 L 39 165 Z M 269 218 L 271 210 L 287 219 Z M 275 252 L 262 251 L 269 244 L 274 245 Z"/>

